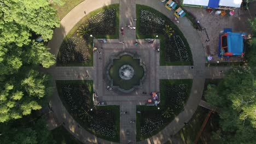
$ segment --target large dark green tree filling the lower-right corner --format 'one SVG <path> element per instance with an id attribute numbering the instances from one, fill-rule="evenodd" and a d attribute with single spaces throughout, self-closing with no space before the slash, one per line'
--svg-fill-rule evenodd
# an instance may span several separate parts
<path id="1" fill-rule="evenodd" d="M 207 89 L 208 103 L 222 108 L 219 114 L 221 130 L 213 134 L 213 139 L 222 143 L 255 142 L 256 81 L 253 74 L 246 65 L 235 67 L 218 87 Z"/>

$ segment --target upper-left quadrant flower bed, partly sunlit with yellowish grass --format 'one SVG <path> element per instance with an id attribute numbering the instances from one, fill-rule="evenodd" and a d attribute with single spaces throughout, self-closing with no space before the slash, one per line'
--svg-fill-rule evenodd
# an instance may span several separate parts
<path id="1" fill-rule="evenodd" d="M 68 34 L 70 36 L 63 41 L 57 57 L 57 64 L 72 66 L 76 65 L 74 63 L 84 63 L 84 66 L 92 66 L 93 38 L 90 35 L 92 34 L 94 37 L 114 35 L 118 19 L 117 13 L 118 10 L 115 8 L 103 9 L 79 23 L 80 26 L 75 31 L 72 29 L 73 34 Z M 82 31 L 83 34 L 80 34 L 79 31 Z"/>

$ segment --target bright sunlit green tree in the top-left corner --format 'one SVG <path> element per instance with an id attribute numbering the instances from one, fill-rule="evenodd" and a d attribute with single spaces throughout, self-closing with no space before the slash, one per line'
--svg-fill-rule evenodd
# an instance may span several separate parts
<path id="1" fill-rule="evenodd" d="M 56 10 L 46 0 L 0 0 L 0 9 L 1 45 L 27 45 L 33 33 L 47 41 L 60 26 Z"/>

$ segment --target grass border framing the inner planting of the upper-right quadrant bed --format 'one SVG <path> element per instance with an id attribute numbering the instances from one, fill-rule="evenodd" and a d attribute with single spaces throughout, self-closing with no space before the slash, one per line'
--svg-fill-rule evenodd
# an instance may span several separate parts
<path id="1" fill-rule="evenodd" d="M 170 61 L 165 61 L 165 37 L 163 34 L 159 33 L 159 34 L 147 34 L 147 35 L 142 35 L 140 34 L 140 11 L 142 10 L 148 10 L 152 13 L 154 13 L 155 15 L 161 17 L 162 19 L 164 19 L 166 21 L 166 23 L 168 23 L 168 25 L 170 25 L 175 33 L 177 35 L 179 35 L 183 41 L 184 41 L 184 45 L 187 47 L 187 52 L 189 55 L 189 61 L 187 62 L 170 62 Z M 164 14 L 160 13 L 159 11 L 147 7 L 146 5 L 136 5 L 136 17 L 137 17 L 137 22 L 136 22 L 136 38 L 137 39 L 148 39 L 148 38 L 155 38 L 156 39 L 156 35 L 159 35 L 159 39 L 160 39 L 160 65 L 164 66 L 164 65 L 193 65 L 193 59 L 192 59 L 192 53 L 190 51 L 190 47 L 188 44 L 187 39 L 185 39 L 183 33 L 179 30 L 179 28 L 170 20 L 168 19 L 168 17 L 166 17 Z"/>

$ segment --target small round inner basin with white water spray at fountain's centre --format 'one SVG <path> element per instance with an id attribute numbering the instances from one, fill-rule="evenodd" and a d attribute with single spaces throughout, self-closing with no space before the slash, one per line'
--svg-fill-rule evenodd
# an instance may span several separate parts
<path id="1" fill-rule="evenodd" d="M 119 69 L 119 76 L 123 80 L 130 80 L 133 77 L 133 75 L 134 69 L 131 67 L 131 65 L 125 64 Z"/>

